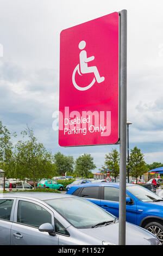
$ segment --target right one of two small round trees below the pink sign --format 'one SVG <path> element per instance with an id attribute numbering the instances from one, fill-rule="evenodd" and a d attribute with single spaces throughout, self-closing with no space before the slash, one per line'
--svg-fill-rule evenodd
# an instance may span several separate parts
<path id="1" fill-rule="evenodd" d="M 77 176 L 85 176 L 86 178 L 92 177 L 91 170 L 95 169 L 96 165 L 93 163 L 91 154 L 84 154 L 76 159 L 75 173 Z"/>

